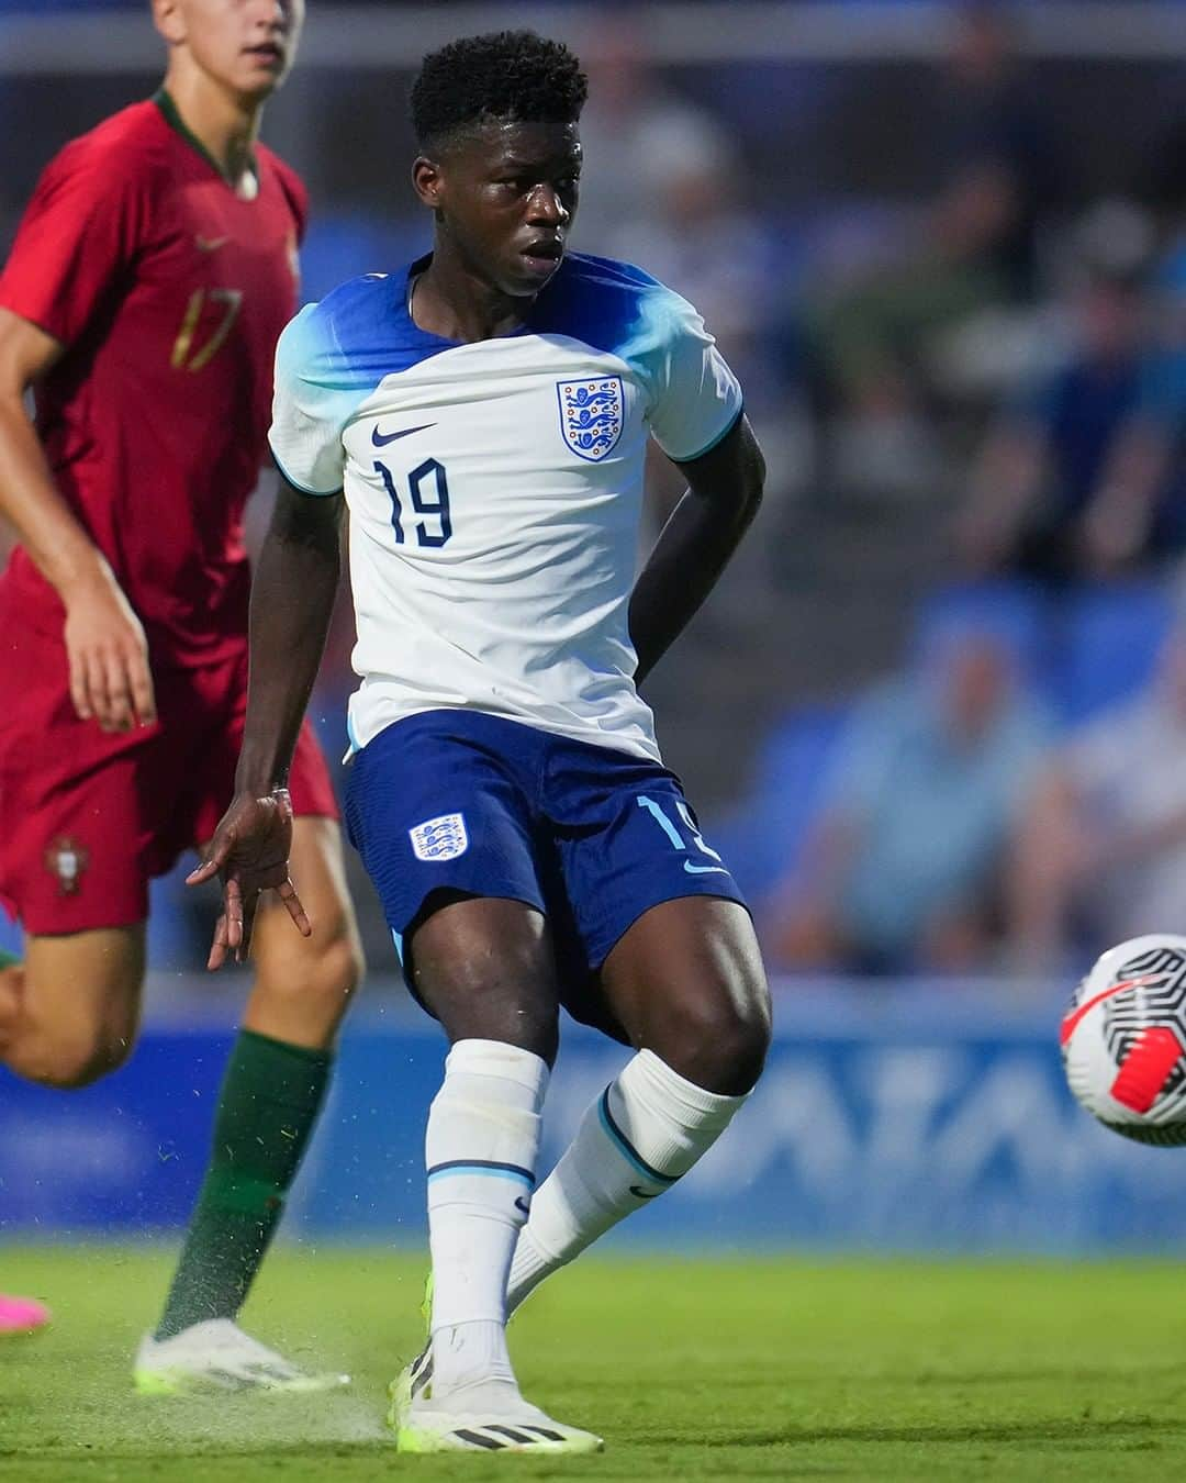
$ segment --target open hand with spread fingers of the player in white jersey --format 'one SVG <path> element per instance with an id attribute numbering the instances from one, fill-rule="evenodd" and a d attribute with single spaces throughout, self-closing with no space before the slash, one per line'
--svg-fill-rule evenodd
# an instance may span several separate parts
<path id="1" fill-rule="evenodd" d="M 222 912 L 213 930 L 208 968 L 221 968 L 231 952 L 236 962 L 248 957 L 261 891 L 277 891 L 301 936 L 313 933 L 288 873 L 291 848 L 288 789 L 277 787 L 264 798 L 240 793 L 222 816 L 206 859 L 185 878 L 187 885 L 200 885 L 215 875 L 222 878 Z"/>

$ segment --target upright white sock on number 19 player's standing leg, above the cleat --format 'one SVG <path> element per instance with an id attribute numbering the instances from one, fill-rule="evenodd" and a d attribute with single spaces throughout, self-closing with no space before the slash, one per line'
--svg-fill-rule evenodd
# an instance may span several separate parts
<path id="1" fill-rule="evenodd" d="M 517 1393 L 507 1272 L 535 1185 L 547 1075 L 540 1056 L 495 1040 L 460 1040 L 445 1062 L 424 1140 L 434 1400 L 486 1384 Z"/>

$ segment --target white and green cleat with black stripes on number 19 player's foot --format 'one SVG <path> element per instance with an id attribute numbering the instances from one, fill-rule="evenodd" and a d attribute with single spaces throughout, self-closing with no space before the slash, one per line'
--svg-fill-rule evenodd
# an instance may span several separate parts
<path id="1" fill-rule="evenodd" d="M 454 1394 L 446 1401 L 428 1400 L 424 1391 L 427 1381 L 431 1379 L 431 1361 L 421 1366 L 420 1376 L 412 1373 L 418 1363 L 409 1364 L 390 1388 L 391 1407 L 387 1412 L 387 1425 L 396 1434 L 399 1452 L 575 1455 L 600 1452 L 605 1447 L 602 1439 L 592 1431 L 565 1427 L 538 1406 L 529 1406 L 517 1394 L 508 1396 L 506 1404 L 474 1410 L 461 1409 L 464 1396 Z M 424 1369 L 428 1372 L 427 1378 Z"/>

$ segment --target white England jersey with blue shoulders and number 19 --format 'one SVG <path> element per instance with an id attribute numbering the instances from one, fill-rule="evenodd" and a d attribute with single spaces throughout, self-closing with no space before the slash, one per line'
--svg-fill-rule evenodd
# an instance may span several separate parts
<path id="1" fill-rule="evenodd" d="M 627 629 L 646 439 L 707 452 L 737 380 L 639 268 L 569 255 L 519 332 L 461 344 L 408 313 L 427 262 L 344 283 L 276 351 L 276 461 L 350 509 L 351 747 L 452 707 L 658 761 Z"/>

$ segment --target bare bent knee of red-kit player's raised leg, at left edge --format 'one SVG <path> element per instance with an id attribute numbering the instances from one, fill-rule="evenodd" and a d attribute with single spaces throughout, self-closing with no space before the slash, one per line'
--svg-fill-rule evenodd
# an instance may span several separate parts
<path id="1" fill-rule="evenodd" d="M 30 936 L 0 964 L 0 1060 L 46 1087 L 86 1087 L 132 1051 L 144 983 L 144 922 Z"/>

